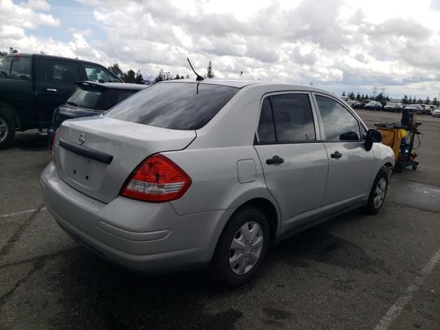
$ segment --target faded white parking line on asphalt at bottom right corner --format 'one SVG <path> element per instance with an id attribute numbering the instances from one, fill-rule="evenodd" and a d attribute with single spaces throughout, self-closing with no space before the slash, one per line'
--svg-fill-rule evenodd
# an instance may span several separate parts
<path id="1" fill-rule="evenodd" d="M 415 281 L 411 283 L 411 285 L 406 289 L 405 296 L 401 296 L 397 301 L 393 304 L 393 306 L 388 309 L 388 312 L 385 314 L 384 318 L 380 320 L 379 324 L 374 328 L 374 330 L 387 330 L 390 329 L 391 324 L 394 320 L 399 316 L 401 311 L 404 310 L 405 306 L 409 303 L 412 298 L 412 294 L 419 289 L 425 280 L 426 276 L 428 276 L 434 267 L 440 262 L 440 249 L 437 251 L 434 256 L 428 261 L 428 263 L 423 267 L 423 270 L 417 274 L 417 278 Z"/>

